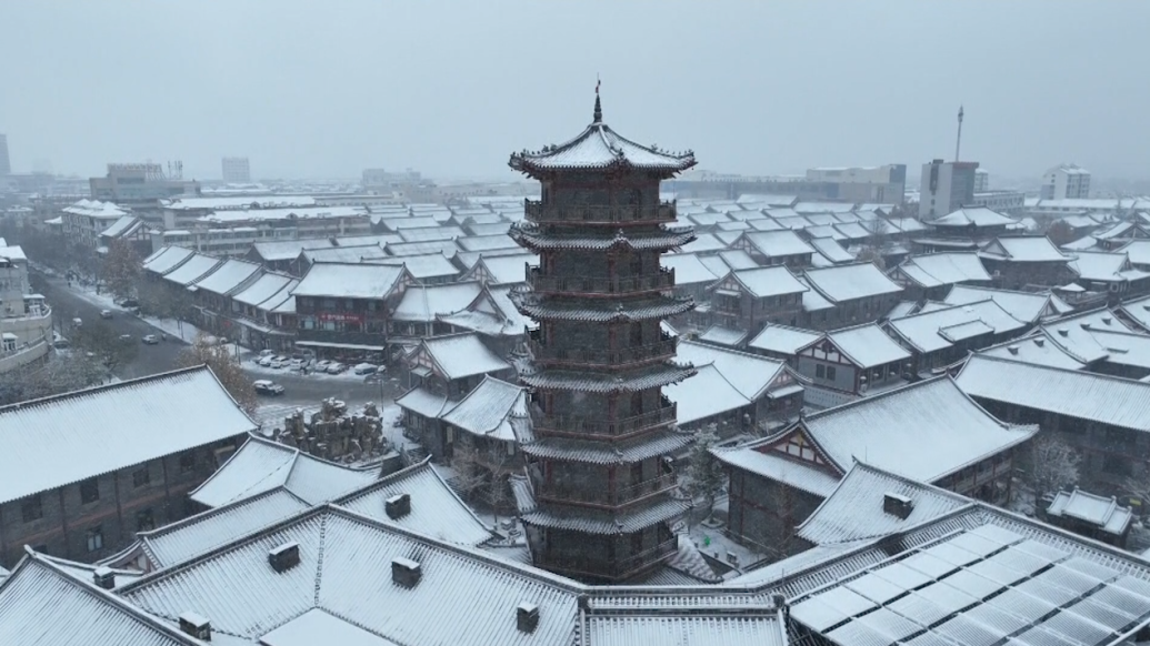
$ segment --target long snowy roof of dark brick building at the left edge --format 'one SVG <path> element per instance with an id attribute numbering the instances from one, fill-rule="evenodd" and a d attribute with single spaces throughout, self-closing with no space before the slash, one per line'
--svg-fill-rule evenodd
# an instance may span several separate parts
<path id="1" fill-rule="evenodd" d="M 0 408 L 0 502 L 253 430 L 206 367 Z"/>

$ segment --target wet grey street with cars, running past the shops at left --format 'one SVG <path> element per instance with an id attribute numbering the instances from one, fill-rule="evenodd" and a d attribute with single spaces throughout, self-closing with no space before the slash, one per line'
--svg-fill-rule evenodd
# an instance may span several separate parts
<path id="1" fill-rule="evenodd" d="M 32 289 L 43 294 L 48 305 L 52 306 L 56 330 L 61 331 L 64 337 L 69 336 L 72 318 L 78 317 L 85 324 L 100 321 L 100 310 L 103 307 L 77 294 L 74 289 L 68 287 L 68 282 L 63 278 L 29 272 L 29 280 Z M 103 323 L 117 334 L 131 334 L 140 345 L 139 352 L 131 362 L 117 367 L 116 376 L 121 379 L 146 377 L 171 370 L 176 366 L 177 355 L 187 347 L 186 344 L 172 336 L 168 337 L 167 343 L 144 345 L 139 341 L 141 337 L 145 334 L 159 337 L 161 330 L 121 309 L 114 309 L 113 317 Z M 252 380 L 271 379 L 283 385 L 285 390 L 283 397 L 261 398 L 261 402 L 266 403 L 266 406 L 261 406 L 261 410 L 290 412 L 297 407 L 315 407 L 320 405 L 321 400 L 330 397 L 342 399 L 351 406 L 359 406 L 367 401 L 385 403 L 393 401 L 402 393 L 399 384 L 390 378 L 384 378 L 382 383 L 369 384 L 365 383 L 361 377 L 346 374 L 305 377 L 289 370 L 253 369 L 250 357 L 251 355 L 240 355 L 244 371 L 251 375 Z"/>

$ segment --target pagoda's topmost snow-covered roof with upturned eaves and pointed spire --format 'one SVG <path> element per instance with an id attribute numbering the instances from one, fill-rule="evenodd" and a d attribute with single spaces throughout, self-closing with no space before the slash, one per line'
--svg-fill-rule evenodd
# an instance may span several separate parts
<path id="1" fill-rule="evenodd" d="M 660 171 L 670 176 L 691 168 L 696 162 L 692 151 L 672 153 L 657 146 L 642 146 L 612 130 L 603 122 L 603 106 L 597 94 L 593 121 L 583 132 L 558 146 L 512 153 L 507 163 L 529 176 L 557 170 L 616 168 Z"/>

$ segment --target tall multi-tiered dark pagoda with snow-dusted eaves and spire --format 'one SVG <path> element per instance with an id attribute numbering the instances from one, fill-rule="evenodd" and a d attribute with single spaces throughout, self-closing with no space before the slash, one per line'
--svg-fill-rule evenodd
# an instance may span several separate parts
<path id="1" fill-rule="evenodd" d="M 630 141 L 595 117 L 574 139 L 512 154 L 537 179 L 538 201 L 511 230 L 539 255 L 512 293 L 536 322 L 520 361 L 534 393 L 530 466 L 513 482 L 537 567 L 591 582 L 619 582 L 676 552 L 672 525 L 688 503 L 672 495 L 670 455 L 690 436 L 662 395 L 695 370 L 675 363 L 667 317 L 695 307 L 672 295 L 661 254 L 695 239 L 674 226 L 659 183 L 695 166 L 695 154 Z"/>

